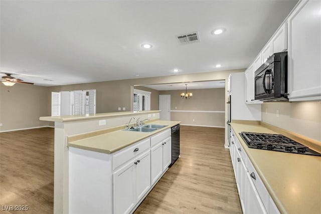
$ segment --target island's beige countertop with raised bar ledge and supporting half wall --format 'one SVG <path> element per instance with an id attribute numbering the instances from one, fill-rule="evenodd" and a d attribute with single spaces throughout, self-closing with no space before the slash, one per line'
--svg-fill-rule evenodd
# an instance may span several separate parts
<path id="1" fill-rule="evenodd" d="M 135 120 L 130 119 L 134 117 Z M 41 117 L 40 120 L 55 122 L 54 149 L 54 213 L 69 213 L 69 173 L 70 149 L 95 152 L 96 154 L 110 154 L 148 138 L 149 134 L 162 132 L 176 125 L 179 121 L 168 121 L 167 127 L 152 133 L 133 133 L 122 131 L 125 125 L 132 126 L 135 121 L 148 119 L 151 123 L 166 123 L 159 121 L 159 111 L 143 112 L 115 112 L 95 115 Z M 97 137 L 97 138 L 95 138 Z M 106 140 L 108 139 L 108 140 Z M 88 145 L 86 142 L 90 142 Z M 120 143 L 117 144 L 117 142 Z M 104 146 L 105 145 L 105 146 Z"/>

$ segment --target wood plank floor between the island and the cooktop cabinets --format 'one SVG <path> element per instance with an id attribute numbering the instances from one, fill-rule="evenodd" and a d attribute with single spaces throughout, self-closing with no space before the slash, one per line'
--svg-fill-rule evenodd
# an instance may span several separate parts
<path id="1" fill-rule="evenodd" d="M 224 129 L 181 126 L 181 158 L 135 213 L 242 213 Z"/>

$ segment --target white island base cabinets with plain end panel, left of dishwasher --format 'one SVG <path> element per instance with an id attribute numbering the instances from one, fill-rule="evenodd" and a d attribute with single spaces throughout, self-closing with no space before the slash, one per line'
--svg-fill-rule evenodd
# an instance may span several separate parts
<path id="1" fill-rule="evenodd" d="M 171 144 L 168 128 L 110 154 L 70 147 L 69 213 L 132 213 L 171 164 Z"/>

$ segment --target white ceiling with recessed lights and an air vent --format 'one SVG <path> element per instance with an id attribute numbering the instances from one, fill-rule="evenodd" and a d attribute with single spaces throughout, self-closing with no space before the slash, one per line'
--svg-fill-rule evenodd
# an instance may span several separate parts
<path id="1" fill-rule="evenodd" d="M 51 86 L 246 68 L 296 2 L 0 1 L 0 71 Z"/>

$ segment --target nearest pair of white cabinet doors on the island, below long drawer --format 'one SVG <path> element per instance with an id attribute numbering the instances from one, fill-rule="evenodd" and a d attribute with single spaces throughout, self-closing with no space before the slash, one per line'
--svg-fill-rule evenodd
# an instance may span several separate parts
<path id="1" fill-rule="evenodd" d="M 114 213 L 128 213 L 150 188 L 150 151 L 113 173 Z"/>

